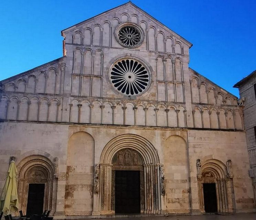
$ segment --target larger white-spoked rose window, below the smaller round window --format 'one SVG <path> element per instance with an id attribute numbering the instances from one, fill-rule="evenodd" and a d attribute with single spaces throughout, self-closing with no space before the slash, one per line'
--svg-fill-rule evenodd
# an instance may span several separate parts
<path id="1" fill-rule="evenodd" d="M 150 71 L 145 64 L 132 57 L 118 59 L 111 65 L 109 80 L 115 90 L 126 96 L 145 92 L 150 84 Z"/>

